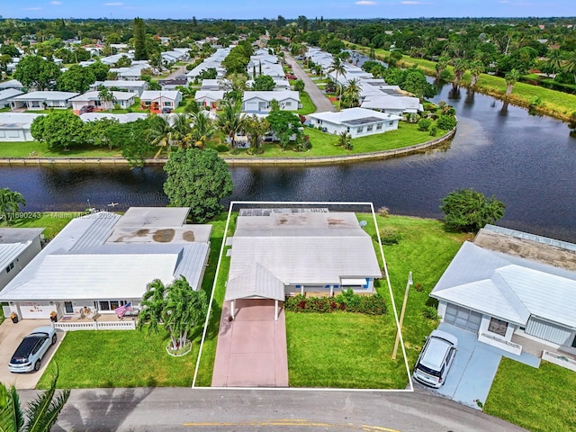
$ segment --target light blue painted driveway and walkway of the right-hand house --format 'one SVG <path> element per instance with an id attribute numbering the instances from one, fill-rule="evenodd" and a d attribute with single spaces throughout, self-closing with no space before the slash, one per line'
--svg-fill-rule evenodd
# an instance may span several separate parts
<path id="1" fill-rule="evenodd" d="M 514 356 L 499 348 L 479 342 L 477 335 L 472 331 L 459 329 L 445 322 L 440 323 L 438 329 L 458 338 L 458 352 L 446 377 L 446 383 L 432 392 L 437 392 L 476 410 L 481 410 L 476 401 L 481 401 L 483 404 L 488 398 L 502 356 L 533 367 L 540 365 L 540 359 L 536 356 L 527 353 Z"/>

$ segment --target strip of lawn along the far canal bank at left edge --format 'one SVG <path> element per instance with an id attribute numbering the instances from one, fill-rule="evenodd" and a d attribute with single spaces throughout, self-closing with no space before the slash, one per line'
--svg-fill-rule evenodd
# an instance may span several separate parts
<path id="1" fill-rule="evenodd" d="M 122 157 L 118 148 L 74 146 L 68 151 L 51 150 L 48 144 L 38 141 L 0 142 L 0 157 Z"/>

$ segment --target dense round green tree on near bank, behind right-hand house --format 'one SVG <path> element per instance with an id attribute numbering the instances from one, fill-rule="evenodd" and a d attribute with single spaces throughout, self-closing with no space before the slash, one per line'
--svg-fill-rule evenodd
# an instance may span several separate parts
<path id="1" fill-rule="evenodd" d="M 442 199 L 440 210 L 444 213 L 447 229 L 476 232 L 487 223 L 502 218 L 505 207 L 494 196 L 486 198 L 482 192 L 459 189 Z"/>

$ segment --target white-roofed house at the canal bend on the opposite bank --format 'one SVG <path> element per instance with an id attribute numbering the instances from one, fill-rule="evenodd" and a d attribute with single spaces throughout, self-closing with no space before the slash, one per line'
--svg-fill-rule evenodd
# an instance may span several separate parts
<path id="1" fill-rule="evenodd" d="M 365 108 L 348 108 L 340 112 L 314 112 L 309 114 L 309 117 L 312 125 L 325 132 L 338 135 L 346 131 L 352 138 L 397 130 L 398 121 L 402 119 L 399 115 Z"/>

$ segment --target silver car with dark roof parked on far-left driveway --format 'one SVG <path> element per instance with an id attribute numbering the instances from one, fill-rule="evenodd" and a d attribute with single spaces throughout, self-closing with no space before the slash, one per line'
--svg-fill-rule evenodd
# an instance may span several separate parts
<path id="1" fill-rule="evenodd" d="M 16 374 L 38 371 L 42 357 L 50 346 L 56 344 L 56 340 L 56 329 L 51 326 L 33 329 L 16 348 L 8 369 Z"/>

